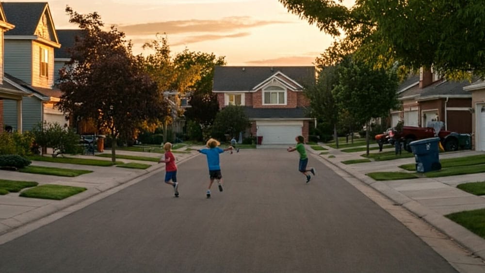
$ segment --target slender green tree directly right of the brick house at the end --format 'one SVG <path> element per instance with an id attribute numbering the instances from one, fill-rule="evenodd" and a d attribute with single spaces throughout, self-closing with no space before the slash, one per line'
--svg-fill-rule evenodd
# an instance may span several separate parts
<path id="1" fill-rule="evenodd" d="M 338 148 L 337 121 L 339 111 L 332 94 L 332 90 L 337 83 L 337 68 L 335 66 L 323 67 L 315 85 L 305 89 L 305 95 L 310 101 L 310 116 L 317 118 L 320 122 L 330 124 L 333 128 L 333 135 Z"/>

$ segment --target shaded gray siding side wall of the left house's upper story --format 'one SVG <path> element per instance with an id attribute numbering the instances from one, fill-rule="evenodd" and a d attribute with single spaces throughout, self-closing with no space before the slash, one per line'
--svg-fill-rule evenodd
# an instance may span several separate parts
<path id="1" fill-rule="evenodd" d="M 5 72 L 32 84 L 32 41 L 5 40 Z"/>

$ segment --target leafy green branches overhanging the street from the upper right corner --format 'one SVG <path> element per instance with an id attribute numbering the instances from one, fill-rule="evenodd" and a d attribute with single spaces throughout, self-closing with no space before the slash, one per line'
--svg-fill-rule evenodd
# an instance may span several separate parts
<path id="1" fill-rule="evenodd" d="M 473 70 L 485 76 L 485 8 L 480 1 L 279 0 L 336 40 L 321 64 L 335 64 L 351 53 L 375 64 L 398 62 L 444 73 Z M 342 33 L 343 32 L 343 33 Z"/>

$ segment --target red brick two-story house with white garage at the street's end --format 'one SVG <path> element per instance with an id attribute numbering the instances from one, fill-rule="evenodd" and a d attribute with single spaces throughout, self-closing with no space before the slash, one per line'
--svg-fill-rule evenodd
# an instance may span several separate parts
<path id="1" fill-rule="evenodd" d="M 244 106 L 251 121 L 246 135 L 261 144 L 294 144 L 295 137 L 308 139 L 305 116 L 309 105 L 305 85 L 315 83 L 314 66 L 216 66 L 212 92 L 220 108 Z"/>

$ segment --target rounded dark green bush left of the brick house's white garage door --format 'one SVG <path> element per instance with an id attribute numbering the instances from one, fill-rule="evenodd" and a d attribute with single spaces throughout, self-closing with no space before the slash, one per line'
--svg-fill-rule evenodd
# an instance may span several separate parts
<path id="1" fill-rule="evenodd" d="M 249 119 L 242 106 L 228 105 L 215 116 L 212 132 L 216 137 L 222 137 L 223 134 L 233 137 L 243 132 L 249 125 Z"/>

